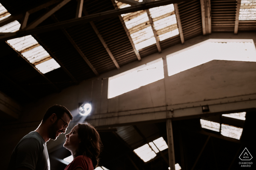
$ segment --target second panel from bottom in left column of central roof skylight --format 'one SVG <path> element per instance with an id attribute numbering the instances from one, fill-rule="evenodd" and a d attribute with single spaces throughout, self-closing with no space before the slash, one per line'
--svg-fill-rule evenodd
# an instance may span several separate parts
<path id="1" fill-rule="evenodd" d="M 132 37 L 133 43 L 138 44 L 144 40 L 154 37 L 154 33 L 151 26 L 148 26 L 144 29 L 141 29 L 140 31 L 132 33 L 131 37 Z"/>

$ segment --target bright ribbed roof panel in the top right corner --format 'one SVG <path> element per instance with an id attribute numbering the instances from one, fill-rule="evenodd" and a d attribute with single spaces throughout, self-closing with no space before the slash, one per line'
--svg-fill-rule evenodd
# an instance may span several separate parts
<path id="1" fill-rule="evenodd" d="M 239 20 L 256 20 L 256 0 L 241 0 Z"/>

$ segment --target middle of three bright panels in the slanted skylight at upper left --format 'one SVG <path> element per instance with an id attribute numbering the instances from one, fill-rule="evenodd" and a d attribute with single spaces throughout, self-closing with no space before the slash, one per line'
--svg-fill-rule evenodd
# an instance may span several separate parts
<path id="1" fill-rule="evenodd" d="M 22 55 L 29 60 L 30 63 L 34 64 L 35 62 L 39 62 L 45 58 L 50 57 L 48 52 L 42 46 L 35 47 L 29 51 L 22 53 Z"/>

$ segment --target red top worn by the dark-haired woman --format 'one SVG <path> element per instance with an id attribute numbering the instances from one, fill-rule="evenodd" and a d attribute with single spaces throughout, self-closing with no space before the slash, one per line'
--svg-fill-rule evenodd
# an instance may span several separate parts
<path id="1" fill-rule="evenodd" d="M 69 163 L 64 170 L 75 170 L 77 167 L 81 167 L 83 170 L 93 170 L 93 162 L 90 158 L 80 155 Z"/>

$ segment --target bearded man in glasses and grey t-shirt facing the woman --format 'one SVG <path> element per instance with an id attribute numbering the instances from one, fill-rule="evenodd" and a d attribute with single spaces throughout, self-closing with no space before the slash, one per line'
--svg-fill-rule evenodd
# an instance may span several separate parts
<path id="1" fill-rule="evenodd" d="M 8 170 L 50 170 L 46 142 L 65 133 L 72 119 L 64 106 L 49 107 L 37 130 L 23 137 L 14 148 Z"/>

